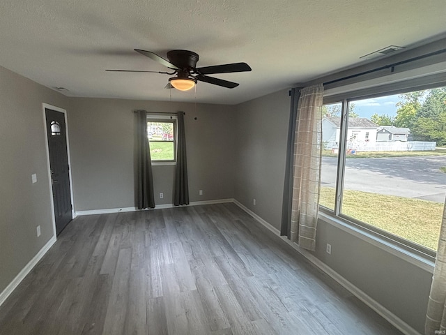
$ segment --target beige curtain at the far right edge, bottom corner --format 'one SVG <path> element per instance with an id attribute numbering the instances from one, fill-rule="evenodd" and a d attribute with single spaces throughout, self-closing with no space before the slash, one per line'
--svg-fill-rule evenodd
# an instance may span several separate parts
<path id="1" fill-rule="evenodd" d="M 437 258 L 429 303 L 426 314 L 426 335 L 446 334 L 446 202 L 443 209 L 440 240 L 438 241 Z"/>

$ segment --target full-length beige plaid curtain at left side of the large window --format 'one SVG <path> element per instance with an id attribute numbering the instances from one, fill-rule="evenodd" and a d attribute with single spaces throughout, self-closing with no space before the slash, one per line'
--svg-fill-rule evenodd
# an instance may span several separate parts
<path id="1" fill-rule="evenodd" d="M 291 241 L 314 251 L 321 184 L 323 84 L 300 91 L 294 142 Z"/>

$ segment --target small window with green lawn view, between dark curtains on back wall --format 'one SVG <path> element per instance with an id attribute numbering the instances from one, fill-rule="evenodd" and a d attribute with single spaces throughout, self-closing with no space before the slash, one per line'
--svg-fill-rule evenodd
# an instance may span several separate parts
<path id="1" fill-rule="evenodd" d="M 158 116 L 157 116 L 158 117 Z M 148 117 L 147 137 L 153 162 L 176 161 L 176 118 Z"/>

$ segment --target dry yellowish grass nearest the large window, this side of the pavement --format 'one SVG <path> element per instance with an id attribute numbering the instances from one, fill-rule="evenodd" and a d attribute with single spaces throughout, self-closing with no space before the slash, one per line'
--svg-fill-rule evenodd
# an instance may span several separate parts
<path id="1" fill-rule="evenodd" d="M 334 188 L 321 187 L 320 204 L 334 208 Z M 437 249 L 443 204 L 393 195 L 344 190 L 342 213 Z"/>

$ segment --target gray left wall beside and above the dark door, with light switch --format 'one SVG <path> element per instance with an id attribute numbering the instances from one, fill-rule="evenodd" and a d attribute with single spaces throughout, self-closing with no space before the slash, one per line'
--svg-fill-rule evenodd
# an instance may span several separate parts
<path id="1" fill-rule="evenodd" d="M 68 109 L 67 102 L 0 67 L 0 292 L 53 235 L 42 103 Z"/>

